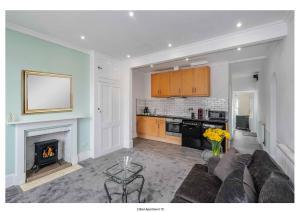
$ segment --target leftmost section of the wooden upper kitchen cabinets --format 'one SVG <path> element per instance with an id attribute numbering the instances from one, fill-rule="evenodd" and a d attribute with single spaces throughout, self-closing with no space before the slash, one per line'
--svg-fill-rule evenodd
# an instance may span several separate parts
<path id="1" fill-rule="evenodd" d="M 170 72 L 151 74 L 151 96 L 170 96 Z"/>

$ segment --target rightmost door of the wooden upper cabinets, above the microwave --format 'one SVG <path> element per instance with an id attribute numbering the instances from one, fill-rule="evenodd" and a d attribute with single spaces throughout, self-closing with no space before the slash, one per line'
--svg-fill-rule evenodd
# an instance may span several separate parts
<path id="1" fill-rule="evenodd" d="M 193 96 L 210 95 L 210 68 L 208 66 L 194 70 Z"/>

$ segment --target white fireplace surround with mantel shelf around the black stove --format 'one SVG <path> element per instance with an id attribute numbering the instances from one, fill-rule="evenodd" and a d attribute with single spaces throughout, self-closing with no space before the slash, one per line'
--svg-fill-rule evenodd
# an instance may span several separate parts
<path id="1" fill-rule="evenodd" d="M 64 159 L 72 165 L 77 164 L 77 118 L 15 123 L 15 185 L 21 185 L 26 180 L 27 138 L 57 132 L 66 132 Z"/>

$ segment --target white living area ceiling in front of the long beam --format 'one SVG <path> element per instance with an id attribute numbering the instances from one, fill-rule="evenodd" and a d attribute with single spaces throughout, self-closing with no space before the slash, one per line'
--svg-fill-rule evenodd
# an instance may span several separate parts
<path id="1" fill-rule="evenodd" d="M 277 20 L 287 11 L 6 11 L 6 22 L 117 59 L 142 56 Z M 236 23 L 243 26 L 238 29 Z M 80 36 L 84 35 L 85 40 Z"/>

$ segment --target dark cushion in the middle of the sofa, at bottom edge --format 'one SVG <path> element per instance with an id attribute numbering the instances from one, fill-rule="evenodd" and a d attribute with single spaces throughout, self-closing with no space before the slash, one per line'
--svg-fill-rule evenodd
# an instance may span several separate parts
<path id="1" fill-rule="evenodd" d="M 257 194 L 248 168 L 238 168 L 224 180 L 218 192 L 217 203 L 253 203 Z"/>

